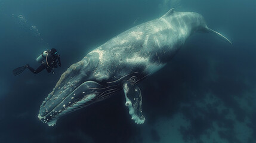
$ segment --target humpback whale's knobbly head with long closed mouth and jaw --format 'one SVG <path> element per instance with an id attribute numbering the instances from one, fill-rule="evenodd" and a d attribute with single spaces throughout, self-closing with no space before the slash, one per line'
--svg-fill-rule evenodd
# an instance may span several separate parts
<path id="1" fill-rule="evenodd" d="M 38 118 L 49 126 L 55 125 L 64 114 L 100 100 L 100 84 L 91 80 L 97 60 L 85 57 L 69 67 L 60 77 L 53 91 L 42 102 Z"/>

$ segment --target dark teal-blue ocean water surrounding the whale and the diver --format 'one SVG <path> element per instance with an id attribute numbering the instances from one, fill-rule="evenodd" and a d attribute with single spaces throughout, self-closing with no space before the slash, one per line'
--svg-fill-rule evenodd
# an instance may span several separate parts
<path id="1" fill-rule="evenodd" d="M 175 7 L 205 17 L 173 60 L 140 83 L 146 122 L 132 122 L 123 92 L 49 127 L 39 106 L 73 63 L 125 30 Z M 256 1 L 0 0 L 0 142 L 256 142 Z M 12 70 L 56 48 L 55 74 Z"/>

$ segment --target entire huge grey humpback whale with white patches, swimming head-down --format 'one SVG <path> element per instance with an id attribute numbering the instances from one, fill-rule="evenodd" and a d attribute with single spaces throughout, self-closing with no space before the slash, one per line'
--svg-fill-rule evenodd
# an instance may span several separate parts
<path id="1" fill-rule="evenodd" d="M 137 84 L 164 67 L 193 33 L 214 33 L 231 43 L 209 29 L 201 14 L 171 9 L 115 36 L 72 64 L 42 102 L 39 120 L 53 126 L 60 117 L 123 90 L 131 119 L 144 123 Z"/>

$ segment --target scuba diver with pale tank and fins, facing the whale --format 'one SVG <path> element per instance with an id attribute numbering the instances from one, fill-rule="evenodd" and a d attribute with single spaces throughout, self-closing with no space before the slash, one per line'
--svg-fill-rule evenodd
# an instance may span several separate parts
<path id="1" fill-rule="evenodd" d="M 54 68 L 57 68 L 58 66 L 61 67 L 60 55 L 58 55 L 57 50 L 54 48 L 42 52 L 42 54 L 39 55 L 38 58 L 36 58 L 36 61 L 41 63 L 41 66 L 39 66 L 38 69 L 35 70 L 32 67 L 30 67 L 29 64 L 26 64 L 25 66 L 14 69 L 13 74 L 17 76 L 18 74 L 22 73 L 25 69 L 29 69 L 34 74 L 38 74 L 44 69 L 46 69 L 48 73 L 50 73 L 53 70 L 52 73 L 54 74 Z"/>

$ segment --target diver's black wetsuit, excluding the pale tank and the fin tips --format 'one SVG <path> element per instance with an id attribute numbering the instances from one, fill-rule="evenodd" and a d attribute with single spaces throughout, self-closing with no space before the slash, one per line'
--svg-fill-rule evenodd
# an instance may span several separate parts
<path id="1" fill-rule="evenodd" d="M 60 63 L 60 55 L 55 54 L 57 51 L 53 51 L 53 49 L 48 53 L 47 57 L 44 61 L 42 61 L 41 66 L 38 69 L 33 69 L 27 64 L 27 69 L 29 69 L 32 73 L 37 74 L 40 73 L 42 70 L 46 69 L 48 73 L 51 72 L 52 69 L 57 68 L 58 66 L 61 67 Z"/>

